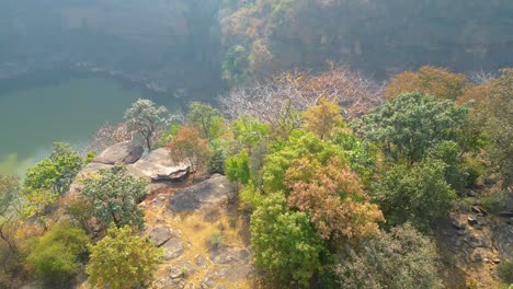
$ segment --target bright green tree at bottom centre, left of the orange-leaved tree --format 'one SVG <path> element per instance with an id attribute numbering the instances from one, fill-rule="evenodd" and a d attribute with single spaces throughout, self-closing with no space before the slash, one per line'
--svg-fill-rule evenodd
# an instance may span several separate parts
<path id="1" fill-rule="evenodd" d="M 255 265 L 283 287 L 307 287 L 323 251 L 308 215 L 288 210 L 283 194 L 273 194 L 253 212 L 250 227 Z"/>

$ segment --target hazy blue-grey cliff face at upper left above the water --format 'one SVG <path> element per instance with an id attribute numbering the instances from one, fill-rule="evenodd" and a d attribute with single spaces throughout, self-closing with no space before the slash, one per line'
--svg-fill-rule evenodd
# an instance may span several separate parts
<path id="1" fill-rule="evenodd" d="M 37 69 L 86 62 L 171 92 L 208 89 L 215 95 L 221 85 L 217 2 L 5 0 L 0 65 Z"/>

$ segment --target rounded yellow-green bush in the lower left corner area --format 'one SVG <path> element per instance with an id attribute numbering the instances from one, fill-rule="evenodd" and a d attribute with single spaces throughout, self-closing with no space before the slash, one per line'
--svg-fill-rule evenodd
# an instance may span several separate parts
<path id="1" fill-rule="evenodd" d="M 86 232 L 69 222 L 55 224 L 35 240 L 27 263 L 48 286 L 64 286 L 72 281 L 88 253 Z"/>

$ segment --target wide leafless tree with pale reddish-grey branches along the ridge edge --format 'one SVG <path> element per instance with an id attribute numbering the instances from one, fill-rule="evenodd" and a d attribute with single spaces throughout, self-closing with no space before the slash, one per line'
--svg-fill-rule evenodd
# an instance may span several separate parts
<path id="1" fill-rule="evenodd" d="M 305 71 L 280 73 L 266 82 L 235 89 L 220 102 L 231 119 L 255 117 L 278 128 L 297 128 L 299 112 L 320 99 L 337 102 L 346 119 L 365 114 L 384 103 L 384 85 L 344 68 L 310 74 Z"/>

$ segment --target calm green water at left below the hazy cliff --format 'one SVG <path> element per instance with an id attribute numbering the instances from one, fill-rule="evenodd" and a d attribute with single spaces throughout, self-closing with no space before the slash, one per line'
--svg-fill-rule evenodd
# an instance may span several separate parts
<path id="1" fill-rule="evenodd" d="M 64 80 L 0 94 L 0 174 L 21 174 L 54 141 L 84 147 L 105 123 L 123 120 L 137 91 L 100 78 Z"/>

